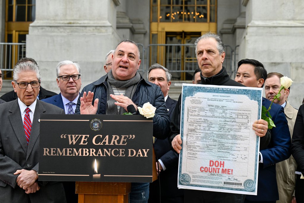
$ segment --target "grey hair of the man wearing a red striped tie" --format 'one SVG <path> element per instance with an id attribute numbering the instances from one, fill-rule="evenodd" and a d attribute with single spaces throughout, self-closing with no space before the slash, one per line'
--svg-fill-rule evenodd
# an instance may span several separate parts
<path id="1" fill-rule="evenodd" d="M 20 62 L 17 63 L 14 66 L 13 69 L 13 80 L 17 82 L 19 79 L 19 73 L 24 72 L 24 71 L 33 71 L 36 72 L 36 76 L 38 78 L 38 81 L 41 80 L 41 75 L 40 75 L 40 68 L 37 64 L 32 63 L 32 62 Z"/>

